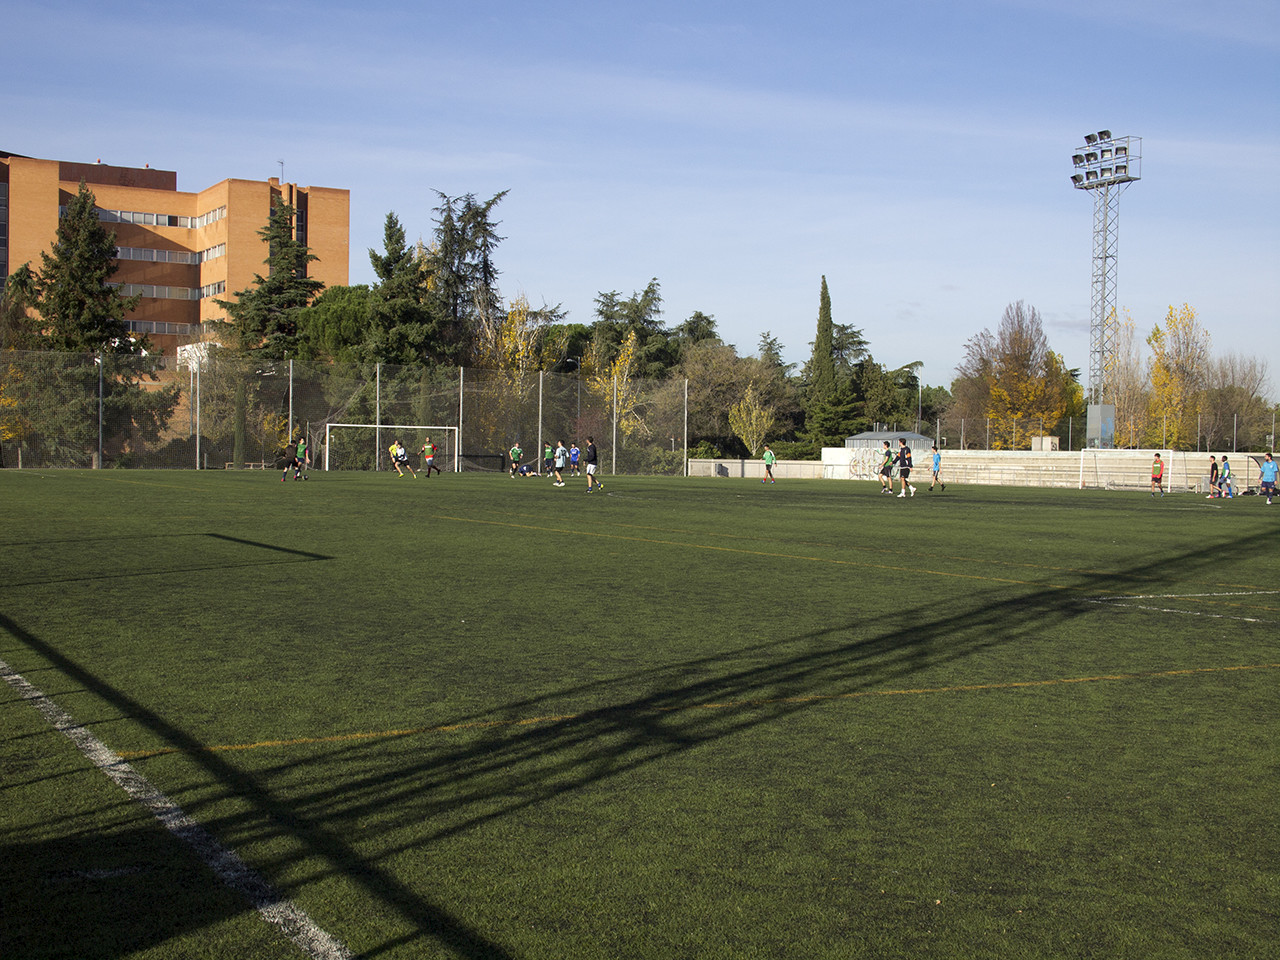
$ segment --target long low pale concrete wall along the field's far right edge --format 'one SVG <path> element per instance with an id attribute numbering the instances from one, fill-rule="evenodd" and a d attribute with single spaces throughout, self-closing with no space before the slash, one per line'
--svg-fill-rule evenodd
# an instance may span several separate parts
<path id="1" fill-rule="evenodd" d="M 1157 451 L 942 451 L 942 480 L 948 484 L 992 486 L 1056 486 L 1070 489 L 1138 490 L 1151 486 L 1151 463 Z M 1160 451 L 1165 461 L 1165 489 L 1208 492 L 1210 453 Z M 1219 462 L 1221 453 L 1213 453 Z M 1257 463 L 1247 453 L 1231 457 L 1239 490 L 1257 485 Z M 916 483 L 932 479 L 932 454 L 914 452 Z M 778 480 L 827 479 L 874 480 L 879 453 L 874 449 L 827 447 L 822 460 L 780 460 L 773 467 Z M 760 460 L 690 460 L 690 476 L 764 476 Z"/>

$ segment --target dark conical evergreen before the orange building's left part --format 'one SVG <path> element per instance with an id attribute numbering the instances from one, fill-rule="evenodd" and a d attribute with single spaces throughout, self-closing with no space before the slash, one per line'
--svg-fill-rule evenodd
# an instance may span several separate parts
<path id="1" fill-rule="evenodd" d="M 40 256 L 36 308 L 45 346 L 73 353 L 141 353 L 150 347 L 146 338 L 129 335 L 124 315 L 141 297 L 122 297 L 110 284 L 119 269 L 115 234 L 99 221 L 83 182 L 58 221 L 51 252 Z"/>

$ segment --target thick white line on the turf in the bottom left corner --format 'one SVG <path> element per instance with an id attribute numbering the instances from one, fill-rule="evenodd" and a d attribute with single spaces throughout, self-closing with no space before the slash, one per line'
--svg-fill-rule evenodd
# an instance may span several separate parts
<path id="1" fill-rule="evenodd" d="M 10 669 L 4 660 L 0 660 L 0 677 L 4 677 L 22 699 L 29 701 L 54 730 L 70 740 L 90 763 L 102 771 L 131 799 L 150 810 L 170 833 L 195 849 L 223 883 L 252 904 L 268 923 L 279 927 L 307 956 L 315 960 L 352 959 L 352 952 L 343 943 L 320 929 L 293 901 L 282 897 L 238 854 L 214 840 L 204 827 L 183 813 L 182 808 L 151 786 L 146 777 L 111 753 L 101 740 L 78 724 L 69 713 L 27 682 L 23 676 Z"/>

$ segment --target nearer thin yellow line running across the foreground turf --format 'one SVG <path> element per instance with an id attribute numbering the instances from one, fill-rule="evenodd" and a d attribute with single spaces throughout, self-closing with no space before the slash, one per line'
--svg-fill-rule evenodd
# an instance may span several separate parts
<path id="1" fill-rule="evenodd" d="M 677 710 L 726 710 L 742 707 L 768 707 L 772 704 L 820 703 L 823 700 L 859 700 L 868 696 L 923 696 L 925 694 L 968 694 L 982 690 L 1024 690 L 1032 687 L 1065 686 L 1068 684 L 1097 684 L 1119 680 L 1156 680 L 1162 677 L 1187 677 L 1197 673 L 1229 673 L 1235 671 L 1276 669 L 1280 663 L 1251 663 L 1234 667 L 1187 667 L 1183 669 L 1144 671 L 1140 673 L 1103 673 L 1093 677 L 1056 677 L 1052 680 L 1011 680 L 1002 684 L 960 684 L 955 686 L 924 686 L 904 690 L 861 690 L 852 694 L 808 694 L 804 696 L 773 696 L 746 700 L 721 700 L 716 703 L 686 704 L 684 707 L 658 707 L 657 712 Z M 607 710 L 605 710 L 607 712 Z M 161 748 L 157 750 L 120 750 L 122 760 L 146 760 L 152 756 L 196 753 L 230 753 L 236 750 L 261 750 L 270 746 L 306 746 L 312 744 L 342 744 L 357 740 L 381 740 L 388 737 L 417 736 L 422 733 L 453 733 L 461 730 L 492 730 L 495 727 L 529 727 L 538 723 L 559 723 L 581 719 L 585 713 L 562 713 L 547 717 L 524 717 L 521 719 L 470 721 L 466 723 L 445 723 L 434 727 L 406 727 L 402 730 L 379 730 L 358 733 L 334 733 L 324 737 L 294 737 L 292 740 L 259 740 L 252 744 L 221 744 L 198 750 L 180 748 Z"/>

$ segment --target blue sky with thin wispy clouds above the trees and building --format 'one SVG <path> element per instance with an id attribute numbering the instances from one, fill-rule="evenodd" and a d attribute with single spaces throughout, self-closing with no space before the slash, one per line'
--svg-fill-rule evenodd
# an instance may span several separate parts
<path id="1" fill-rule="evenodd" d="M 1190 303 L 1280 383 L 1275 0 L 125 8 L 0 0 L 0 150 L 351 189 L 351 279 L 436 189 L 498 207 L 500 285 L 593 320 L 657 276 L 754 353 L 809 356 L 820 276 L 877 360 L 950 384 L 1023 300 L 1088 369 L 1085 133 L 1143 138 L 1119 296 Z"/>

